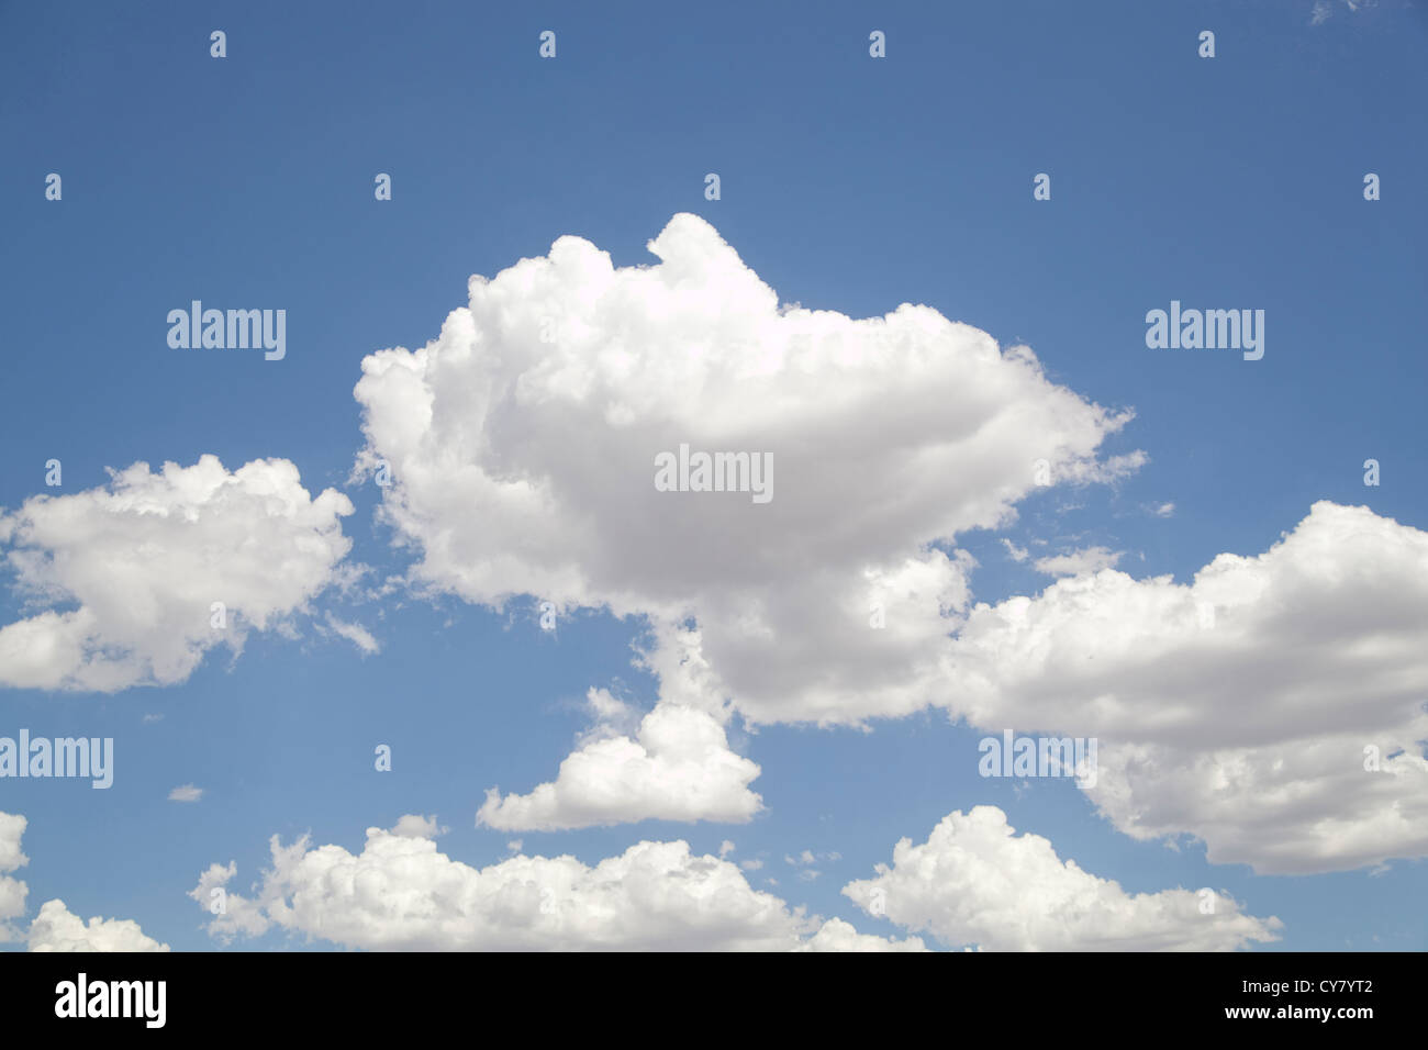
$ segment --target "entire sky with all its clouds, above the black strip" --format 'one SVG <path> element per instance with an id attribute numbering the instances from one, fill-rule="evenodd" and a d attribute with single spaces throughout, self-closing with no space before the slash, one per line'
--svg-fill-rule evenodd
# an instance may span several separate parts
<path id="1" fill-rule="evenodd" d="M 0 949 L 1424 950 L 1425 47 L 0 3 Z"/>

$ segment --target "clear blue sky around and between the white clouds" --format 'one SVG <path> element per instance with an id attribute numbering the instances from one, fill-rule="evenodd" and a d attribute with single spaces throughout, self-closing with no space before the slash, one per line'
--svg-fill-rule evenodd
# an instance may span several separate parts
<path id="1" fill-rule="evenodd" d="M 651 264 L 645 243 L 687 211 L 783 303 L 854 319 L 927 304 L 1028 344 L 1051 383 L 1134 409 L 1097 454 L 1142 450 L 1137 470 L 1031 491 L 1017 521 L 948 540 L 977 559 L 975 601 L 1051 584 L 1002 540 L 1037 556 L 1104 546 L 1137 580 L 1187 583 L 1217 554 L 1268 550 L 1318 500 L 1428 529 L 1428 13 L 1329 10 L 1311 24 L 1311 0 L 4 4 L 0 509 L 103 487 L 106 469 L 137 461 L 280 457 L 313 496 L 351 499 L 348 561 L 400 577 L 413 547 L 374 517 L 381 490 L 348 480 L 363 359 L 436 339 L 468 276 L 564 234 L 615 266 Z M 547 29 L 553 60 L 537 54 Z M 1214 59 L 1197 54 L 1205 29 Z M 883 60 L 871 30 L 887 34 Z M 44 199 L 50 171 L 60 201 Z M 391 201 L 373 199 L 378 171 Z M 710 171 L 720 200 L 705 200 Z M 1052 197 L 1034 201 L 1042 171 Z M 1369 171 L 1378 201 L 1362 196 Z M 164 317 L 194 299 L 286 309 L 286 359 L 170 349 Z M 1172 299 L 1265 310 L 1264 359 L 1147 349 L 1147 310 Z M 44 487 L 50 459 L 59 490 Z M 34 614 L 13 581 L 0 623 Z M 29 820 L 30 863 L 13 873 L 30 887 L 24 920 L 60 897 L 174 950 L 221 947 L 186 896 L 211 863 L 236 860 L 231 889 L 247 891 L 271 834 L 357 851 L 367 827 L 436 814 L 450 829 L 438 849 L 476 867 L 513 839 L 585 864 L 644 839 L 714 854 L 730 840 L 735 861 L 764 861 L 745 871 L 755 890 L 904 936 L 841 887 L 900 839 L 990 804 L 1127 893 L 1222 887 L 1277 916 L 1279 940 L 1255 950 L 1428 947 L 1411 850 L 1332 871 L 1211 864 L 1194 836 L 1130 837 L 1071 783 L 980 777 L 984 733 L 937 706 L 871 731 L 735 716 L 731 747 L 761 769 L 765 810 L 748 823 L 477 827 L 488 787 L 553 779 L 588 727 L 587 689 L 623 683 L 641 710 L 658 696 L 630 663 L 635 620 L 587 610 L 547 633 L 536 600 L 497 611 L 421 587 L 328 590 L 293 637 L 256 631 L 174 684 L 0 690 L 0 734 L 116 741 L 107 791 L 0 781 L 0 810 Z M 324 636 L 327 613 L 380 651 Z M 393 746 L 390 774 L 373 770 L 376 743 Z M 203 799 L 169 801 L 180 784 Z M 840 857 L 804 879 L 784 857 L 805 849 Z M 237 946 L 334 947 L 281 930 Z"/>

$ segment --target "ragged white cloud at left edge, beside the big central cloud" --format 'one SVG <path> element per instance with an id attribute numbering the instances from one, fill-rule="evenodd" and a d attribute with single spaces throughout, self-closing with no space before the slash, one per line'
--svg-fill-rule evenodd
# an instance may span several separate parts
<path id="1" fill-rule="evenodd" d="M 351 546 L 340 521 L 351 501 L 331 489 L 310 497 L 287 460 L 230 473 L 204 456 L 111 477 L 0 514 L 17 587 L 47 607 L 0 629 L 0 686 L 110 693 L 183 681 L 213 646 L 238 650 L 250 630 L 303 607 Z"/>

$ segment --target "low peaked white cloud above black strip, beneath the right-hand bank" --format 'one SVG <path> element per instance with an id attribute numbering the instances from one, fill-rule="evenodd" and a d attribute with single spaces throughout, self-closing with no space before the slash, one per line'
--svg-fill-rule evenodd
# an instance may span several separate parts
<path id="1" fill-rule="evenodd" d="M 948 947 L 987 951 L 1230 951 L 1278 940 L 1222 893 L 1127 893 L 1015 834 L 995 806 L 945 816 L 927 841 L 902 839 L 892 864 L 843 891 L 864 910 Z M 1202 907 L 1205 904 L 1205 907 Z M 1212 904 L 1212 907 L 1211 907 Z"/>

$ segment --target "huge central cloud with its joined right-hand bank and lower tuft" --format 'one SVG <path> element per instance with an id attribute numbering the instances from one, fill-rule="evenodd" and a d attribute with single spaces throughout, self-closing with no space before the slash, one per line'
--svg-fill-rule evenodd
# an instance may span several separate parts
<path id="1" fill-rule="evenodd" d="M 641 663 L 681 727 L 660 749 L 587 741 L 486 819 L 743 819 L 748 767 L 691 711 L 858 723 L 945 706 L 1100 737 L 1098 806 L 1130 834 L 1198 836 L 1212 860 L 1317 871 L 1425 851 L 1422 533 L 1319 504 L 1191 586 L 1092 571 L 1111 556 L 1091 551 L 1044 563 L 1077 576 L 1041 596 L 971 609 L 957 534 L 1005 523 L 1037 480 L 1132 469 L 1138 454 L 1095 459 L 1127 416 L 925 307 L 780 307 L 693 216 L 650 249 L 657 266 L 617 269 L 564 237 L 474 277 L 426 347 L 363 363 L 360 466 L 394 470 L 383 513 L 420 553 L 414 580 L 648 616 Z M 773 500 L 658 491 L 655 456 L 681 443 L 771 453 Z M 688 791 L 661 790 L 687 753 L 727 790 L 683 807 Z"/>

